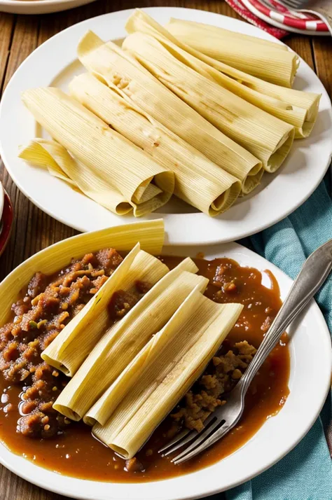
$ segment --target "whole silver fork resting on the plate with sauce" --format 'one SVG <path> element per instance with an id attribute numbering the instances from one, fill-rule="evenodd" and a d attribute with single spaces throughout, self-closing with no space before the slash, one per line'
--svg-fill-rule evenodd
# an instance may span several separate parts
<path id="1" fill-rule="evenodd" d="M 206 450 L 225 436 L 239 422 L 244 410 L 244 396 L 247 389 L 256 375 L 262 363 L 268 357 L 272 349 L 279 342 L 280 336 L 287 326 L 309 303 L 321 285 L 325 282 L 332 269 L 332 239 L 319 246 L 303 264 L 298 277 L 288 296 L 284 300 L 275 320 L 268 333 L 265 334 L 263 342 L 249 364 L 244 375 L 237 382 L 233 391 L 230 392 L 225 405 L 217 408 L 205 420 L 205 427 L 202 431 L 184 430 L 167 443 L 161 450 L 162 456 L 174 453 L 179 448 L 187 445 L 181 453 L 172 459 L 174 464 L 181 464 L 188 459 L 195 457 L 198 453 Z"/>

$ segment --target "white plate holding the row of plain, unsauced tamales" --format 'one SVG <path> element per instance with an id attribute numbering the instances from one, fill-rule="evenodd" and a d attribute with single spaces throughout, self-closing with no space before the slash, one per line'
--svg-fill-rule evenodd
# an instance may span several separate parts
<path id="1" fill-rule="evenodd" d="M 237 32 L 273 39 L 260 29 L 224 16 L 185 8 L 147 8 L 146 12 L 165 24 L 170 17 L 206 22 Z M 18 159 L 18 147 L 41 132 L 34 118 L 20 102 L 20 92 L 42 85 L 66 90 L 74 74 L 83 70 L 76 60 L 81 36 L 92 29 L 102 39 L 122 39 L 125 21 L 132 11 L 121 11 L 92 18 L 65 29 L 43 43 L 20 66 L 8 84 L 0 107 L 1 155 L 13 180 L 27 197 L 57 220 L 81 231 L 97 230 L 134 220 L 112 214 L 66 183 L 34 169 Z M 273 39 L 275 40 L 275 39 Z M 323 85 L 305 62 L 301 62 L 296 88 L 321 92 L 319 118 L 308 139 L 296 141 L 291 154 L 277 175 L 266 174 L 257 190 L 244 197 L 216 218 L 198 213 L 173 197 L 159 214 L 165 218 L 170 244 L 213 244 L 252 235 L 284 218 L 302 204 L 321 181 L 332 153 L 331 102 Z M 167 212 L 167 213 L 165 213 Z"/>

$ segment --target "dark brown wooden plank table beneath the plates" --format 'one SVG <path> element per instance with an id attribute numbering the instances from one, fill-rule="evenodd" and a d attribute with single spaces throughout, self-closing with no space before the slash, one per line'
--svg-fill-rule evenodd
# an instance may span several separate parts
<path id="1" fill-rule="evenodd" d="M 82 20 L 126 8 L 174 6 L 198 8 L 231 17 L 236 13 L 223 1 L 149 1 L 99 0 L 88 6 L 49 15 L 12 15 L 0 13 L 0 85 L 6 88 L 15 69 L 41 43 L 57 32 Z M 286 43 L 316 71 L 331 96 L 332 64 L 331 39 L 290 34 Z M 74 235 L 76 232 L 43 214 L 27 200 L 0 164 L 0 180 L 13 202 L 15 221 L 11 241 L 0 258 L 0 281 L 18 264 L 46 246 Z M 64 496 L 46 492 L 0 466 L 0 500 L 64 500 Z"/>

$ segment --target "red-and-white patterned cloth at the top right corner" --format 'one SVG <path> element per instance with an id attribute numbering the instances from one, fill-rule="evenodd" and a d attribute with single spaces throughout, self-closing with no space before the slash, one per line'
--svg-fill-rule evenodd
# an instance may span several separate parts
<path id="1" fill-rule="evenodd" d="M 309 13 L 289 11 L 277 0 L 226 1 L 242 18 L 264 29 L 277 39 L 282 39 L 291 31 L 306 32 L 307 34 L 328 34 L 328 28 L 323 21 Z"/>

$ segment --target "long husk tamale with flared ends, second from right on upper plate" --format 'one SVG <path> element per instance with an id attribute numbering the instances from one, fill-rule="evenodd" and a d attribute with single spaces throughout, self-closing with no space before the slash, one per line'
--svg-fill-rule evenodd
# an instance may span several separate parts
<path id="1" fill-rule="evenodd" d="M 187 53 L 182 62 L 254 106 L 293 125 L 296 139 L 308 137 L 312 131 L 317 119 L 320 94 L 284 88 L 212 59 L 176 39 L 167 29 L 139 9 L 128 18 L 126 29 L 130 34 L 143 32 L 155 36 L 158 40 L 164 36 L 175 43 Z"/>

